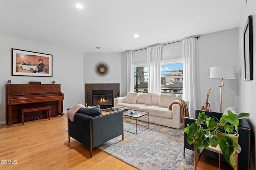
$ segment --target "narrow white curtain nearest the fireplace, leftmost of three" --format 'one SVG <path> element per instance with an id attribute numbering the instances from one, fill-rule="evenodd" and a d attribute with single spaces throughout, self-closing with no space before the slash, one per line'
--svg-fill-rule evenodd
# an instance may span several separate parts
<path id="1" fill-rule="evenodd" d="M 127 61 L 127 92 L 134 92 L 133 86 L 133 69 L 132 69 L 132 51 L 126 52 L 126 61 Z"/>

